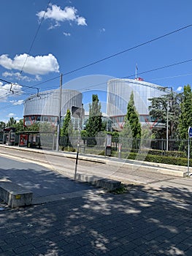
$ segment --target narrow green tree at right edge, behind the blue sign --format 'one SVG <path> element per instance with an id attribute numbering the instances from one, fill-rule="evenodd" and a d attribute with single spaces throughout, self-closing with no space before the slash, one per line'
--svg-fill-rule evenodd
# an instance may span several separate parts
<path id="1" fill-rule="evenodd" d="M 184 86 L 183 101 L 179 117 L 178 137 L 188 139 L 188 127 L 192 126 L 192 92 L 191 86 Z"/>

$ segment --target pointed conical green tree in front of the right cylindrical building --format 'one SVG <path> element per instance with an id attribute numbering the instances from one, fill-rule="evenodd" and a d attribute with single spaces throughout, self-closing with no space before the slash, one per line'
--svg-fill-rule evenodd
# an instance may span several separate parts
<path id="1" fill-rule="evenodd" d="M 128 102 L 127 106 L 127 113 L 125 117 L 125 124 L 123 126 L 123 131 L 121 135 L 125 136 L 126 138 L 141 138 L 142 135 L 142 128 L 139 122 L 139 114 L 134 105 L 134 93 L 131 92 L 131 97 Z"/>

